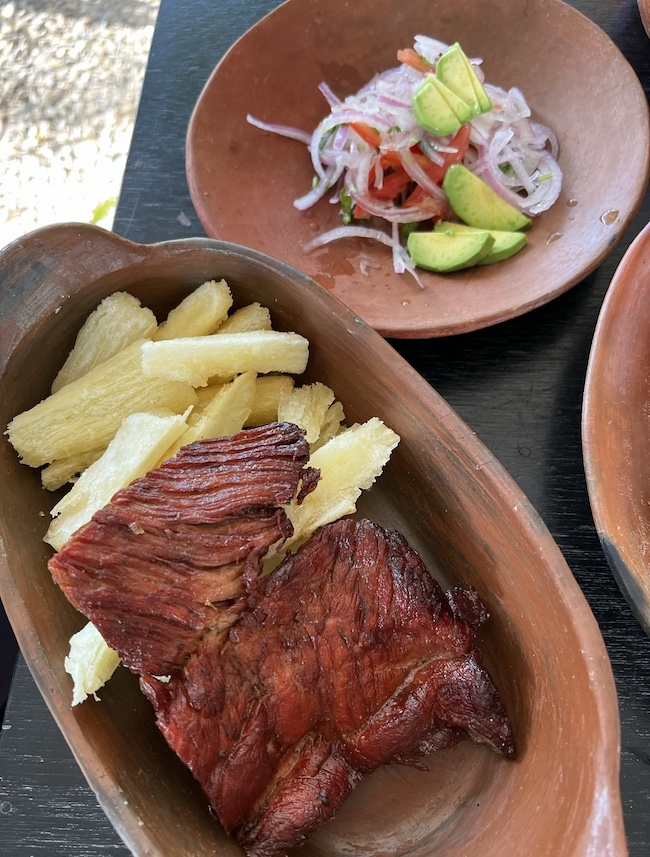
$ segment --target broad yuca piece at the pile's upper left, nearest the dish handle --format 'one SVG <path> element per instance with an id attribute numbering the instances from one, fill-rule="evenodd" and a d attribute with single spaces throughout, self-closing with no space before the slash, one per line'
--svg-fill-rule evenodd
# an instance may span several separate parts
<path id="1" fill-rule="evenodd" d="M 150 339 L 156 316 L 128 292 L 109 295 L 94 309 L 77 334 L 74 347 L 52 383 L 52 392 L 81 378 L 139 339 Z"/>

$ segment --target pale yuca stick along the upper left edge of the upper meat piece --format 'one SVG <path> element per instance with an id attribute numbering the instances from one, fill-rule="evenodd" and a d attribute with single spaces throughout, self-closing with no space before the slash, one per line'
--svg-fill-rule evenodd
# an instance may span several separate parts
<path id="1" fill-rule="evenodd" d="M 187 429 L 187 414 L 129 414 L 106 451 L 85 470 L 52 509 L 44 541 L 61 550 L 79 527 L 87 524 L 120 488 L 144 476 L 165 450 Z"/>

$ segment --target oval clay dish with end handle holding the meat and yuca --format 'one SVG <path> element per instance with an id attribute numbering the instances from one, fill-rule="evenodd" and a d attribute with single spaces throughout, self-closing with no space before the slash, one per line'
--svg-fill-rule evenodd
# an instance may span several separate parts
<path id="1" fill-rule="evenodd" d="M 106 295 L 128 290 L 163 318 L 200 283 L 223 277 L 237 305 L 259 300 L 277 328 L 308 337 L 303 380 L 331 386 L 349 423 L 379 416 L 401 436 L 360 512 L 401 529 L 443 585 L 478 589 L 491 614 L 480 647 L 518 756 L 508 762 L 468 743 L 431 756 L 428 771 L 388 766 L 301 848 L 304 857 L 626 855 L 618 706 L 593 615 L 515 482 L 384 339 L 297 271 L 209 239 L 144 246 L 61 225 L 9 245 L 0 269 L 3 425 L 47 394 Z M 137 857 L 240 854 L 158 733 L 134 676 L 120 669 L 100 703 L 70 707 L 63 659 L 85 620 L 46 567 L 53 499 L 6 438 L 1 451 L 2 599 L 100 804 Z"/>

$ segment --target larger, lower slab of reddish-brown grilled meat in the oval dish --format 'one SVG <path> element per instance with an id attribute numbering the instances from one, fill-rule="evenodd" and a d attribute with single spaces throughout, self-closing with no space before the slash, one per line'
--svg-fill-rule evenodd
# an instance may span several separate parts
<path id="1" fill-rule="evenodd" d="M 182 676 L 141 685 L 226 829 L 275 857 L 379 765 L 468 737 L 513 755 L 472 649 L 484 618 L 475 593 L 446 596 L 398 533 L 347 520 L 287 559 Z"/>

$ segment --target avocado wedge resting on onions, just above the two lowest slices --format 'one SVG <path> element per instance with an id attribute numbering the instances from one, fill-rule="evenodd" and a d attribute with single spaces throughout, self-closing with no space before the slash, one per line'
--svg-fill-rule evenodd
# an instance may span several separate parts
<path id="1" fill-rule="evenodd" d="M 483 179 L 462 164 L 449 167 L 442 181 L 447 202 L 468 226 L 515 232 L 527 229 L 532 220 L 502 199 Z"/>

